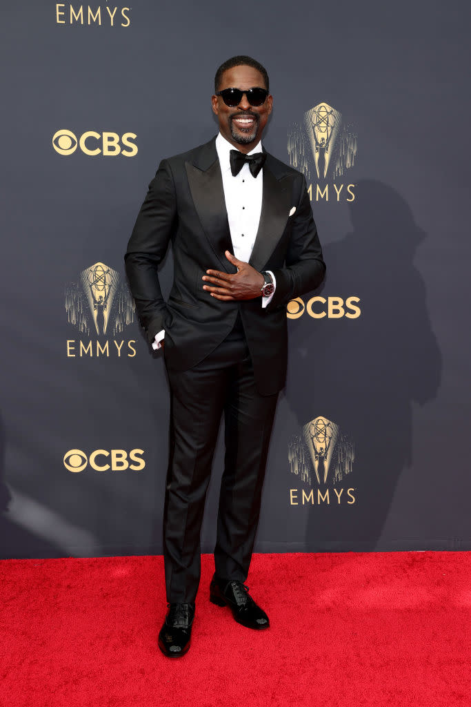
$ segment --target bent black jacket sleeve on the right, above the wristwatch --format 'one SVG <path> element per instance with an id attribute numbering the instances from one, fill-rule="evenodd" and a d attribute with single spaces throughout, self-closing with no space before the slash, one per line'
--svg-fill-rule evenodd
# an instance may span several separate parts
<path id="1" fill-rule="evenodd" d="M 300 182 L 300 184 L 299 184 Z M 312 216 L 306 180 L 299 175 L 299 201 L 292 217 L 290 245 L 285 267 L 275 269 L 276 289 L 268 308 L 276 308 L 314 290 L 324 279 L 326 264 Z"/>

